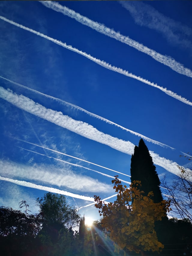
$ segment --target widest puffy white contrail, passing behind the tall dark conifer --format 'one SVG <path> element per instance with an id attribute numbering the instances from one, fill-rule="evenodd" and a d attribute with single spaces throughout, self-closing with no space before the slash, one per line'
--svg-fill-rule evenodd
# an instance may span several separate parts
<path id="1" fill-rule="evenodd" d="M 23 95 L 17 95 L 16 93 L 13 93 L 10 89 L 5 90 L 3 87 L 0 87 L 0 97 L 22 110 L 25 110 L 35 116 L 41 117 L 42 119 L 52 122 L 55 125 L 66 128 L 85 138 L 110 146 L 111 148 L 128 155 L 132 155 L 134 152 L 135 145 L 130 141 L 125 141 L 113 137 L 109 134 L 105 134 L 101 131 L 98 131 L 95 127 L 89 125 L 88 123 L 74 120 L 69 116 L 63 115 L 61 112 L 47 109 L 41 104 L 35 103 L 33 100 Z M 59 153 L 58 151 L 55 152 Z M 163 167 L 165 170 L 171 173 L 179 175 L 180 172 L 177 168 L 178 164 L 176 162 L 161 157 L 153 151 L 149 152 L 153 158 L 154 164 Z"/>

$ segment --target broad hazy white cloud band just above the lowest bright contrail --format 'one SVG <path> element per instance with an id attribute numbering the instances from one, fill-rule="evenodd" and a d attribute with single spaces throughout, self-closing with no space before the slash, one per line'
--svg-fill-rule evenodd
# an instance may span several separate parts
<path id="1" fill-rule="evenodd" d="M 26 165 L 12 161 L 0 160 L 0 175 L 7 178 L 27 179 L 32 182 L 43 182 L 51 186 L 66 187 L 83 192 L 110 192 L 111 187 L 106 183 L 91 177 L 77 174 L 69 167 L 55 167 L 53 165 Z"/>

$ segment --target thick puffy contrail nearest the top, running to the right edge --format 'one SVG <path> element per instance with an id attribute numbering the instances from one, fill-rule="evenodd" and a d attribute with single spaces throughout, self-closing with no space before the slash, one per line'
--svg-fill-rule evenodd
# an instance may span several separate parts
<path id="1" fill-rule="evenodd" d="M 156 61 L 163 63 L 164 65 L 170 67 L 172 70 L 178 72 L 179 74 L 183 74 L 187 77 L 192 77 L 192 71 L 189 68 L 185 68 L 181 63 L 177 62 L 175 59 L 173 59 L 170 56 L 165 56 L 161 53 L 158 53 L 155 50 L 152 50 L 144 46 L 143 44 L 140 44 L 139 42 L 129 38 L 128 36 L 121 35 L 119 32 L 116 32 L 114 29 L 110 29 L 106 27 L 104 24 L 90 20 L 89 18 L 82 16 L 79 13 L 76 13 L 75 11 L 67 8 L 66 6 L 60 5 L 58 2 L 53 2 L 53 1 L 39 1 L 39 2 L 41 2 L 43 5 L 45 5 L 46 7 L 54 11 L 61 12 L 62 14 L 75 19 L 81 24 L 98 31 L 101 34 L 107 35 L 111 38 L 115 38 L 116 40 L 122 43 L 128 44 L 131 47 L 134 47 L 140 52 L 148 54 Z M 122 1 L 122 2 L 124 2 L 124 6 L 127 3 L 126 1 Z"/>

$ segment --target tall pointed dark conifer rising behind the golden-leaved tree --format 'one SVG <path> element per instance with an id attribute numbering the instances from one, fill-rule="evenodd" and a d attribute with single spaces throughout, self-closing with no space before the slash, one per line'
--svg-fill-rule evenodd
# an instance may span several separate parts
<path id="1" fill-rule="evenodd" d="M 155 203 L 159 203 L 163 198 L 159 188 L 160 180 L 155 169 L 149 150 L 144 141 L 140 139 L 139 146 L 135 146 L 134 154 L 131 157 L 131 182 L 140 180 L 144 196 L 153 191 L 152 199 Z"/>

